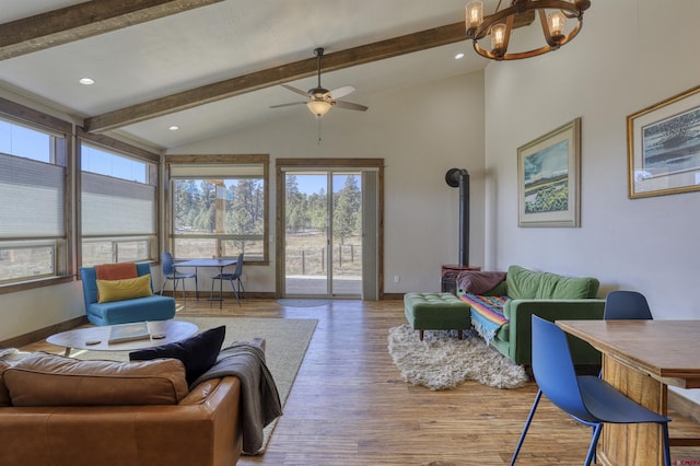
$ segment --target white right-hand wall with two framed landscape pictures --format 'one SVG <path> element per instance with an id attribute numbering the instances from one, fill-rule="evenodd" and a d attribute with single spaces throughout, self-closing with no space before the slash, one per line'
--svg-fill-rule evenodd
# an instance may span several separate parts
<path id="1" fill-rule="evenodd" d="M 593 276 L 644 293 L 655 318 L 700 318 L 700 193 L 629 199 L 626 140 L 628 115 L 700 84 L 699 15 L 695 0 L 596 1 L 561 50 L 487 67 L 489 268 Z M 517 148 L 579 116 L 581 228 L 518 228 Z"/>

